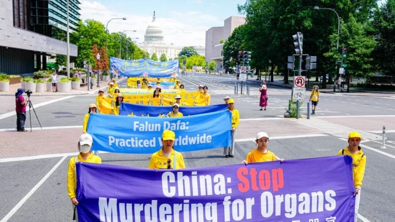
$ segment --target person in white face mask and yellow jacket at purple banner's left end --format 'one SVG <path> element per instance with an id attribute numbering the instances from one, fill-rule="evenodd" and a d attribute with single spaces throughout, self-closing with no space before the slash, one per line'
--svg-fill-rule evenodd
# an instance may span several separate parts
<path id="1" fill-rule="evenodd" d="M 69 167 L 67 171 L 67 193 L 72 201 L 74 208 L 74 218 L 78 222 L 77 208 L 77 174 L 76 174 L 76 164 L 77 162 L 89 162 L 89 163 L 101 163 L 101 158 L 94 155 L 90 149 L 93 146 L 92 136 L 89 134 L 82 134 L 79 137 L 78 150 L 79 154 L 70 158 Z"/>

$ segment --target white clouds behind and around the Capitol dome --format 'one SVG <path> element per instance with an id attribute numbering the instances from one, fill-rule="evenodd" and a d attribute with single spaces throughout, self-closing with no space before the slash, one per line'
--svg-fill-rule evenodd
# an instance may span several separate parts
<path id="1" fill-rule="evenodd" d="M 81 0 L 80 2 L 81 19 L 94 19 L 102 22 L 105 26 L 111 18 L 126 17 L 127 20 L 112 20 L 108 24 L 108 30 L 110 32 L 136 30 L 137 32 L 125 32 L 125 34 L 129 37 L 138 37 L 138 43 L 144 41 L 144 34 L 148 25 L 152 22 L 152 15 L 120 13 L 92 0 Z M 204 46 L 206 30 L 215 25 L 223 25 L 223 21 L 220 21 L 217 17 L 198 11 L 172 11 L 170 14 L 171 17 L 160 17 L 157 14 L 157 22 L 162 28 L 166 44 Z"/>

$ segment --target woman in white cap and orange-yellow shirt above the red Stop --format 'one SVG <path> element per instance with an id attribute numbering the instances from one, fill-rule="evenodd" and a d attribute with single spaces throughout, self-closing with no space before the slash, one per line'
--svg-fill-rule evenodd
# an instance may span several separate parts
<path id="1" fill-rule="evenodd" d="M 269 136 L 265 132 L 259 132 L 256 135 L 255 143 L 258 145 L 258 148 L 251 150 L 245 160 L 242 161 L 245 165 L 253 162 L 267 162 L 267 161 L 275 161 L 277 160 L 276 155 L 267 149 L 269 145 Z M 284 159 L 280 159 L 281 162 Z"/>

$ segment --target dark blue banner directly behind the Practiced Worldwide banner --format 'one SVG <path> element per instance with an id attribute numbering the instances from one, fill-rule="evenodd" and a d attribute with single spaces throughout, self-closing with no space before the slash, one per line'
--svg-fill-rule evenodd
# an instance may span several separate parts
<path id="1" fill-rule="evenodd" d="M 181 106 L 178 110 L 184 116 L 194 116 L 204 113 L 212 113 L 222 110 L 227 110 L 227 104 L 211 105 L 211 106 Z M 127 116 L 151 116 L 160 117 L 171 112 L 171 106 L 147 106 L 137 105 L 133 103 L 121 103 L 119 107 L 119 115 Z"/>

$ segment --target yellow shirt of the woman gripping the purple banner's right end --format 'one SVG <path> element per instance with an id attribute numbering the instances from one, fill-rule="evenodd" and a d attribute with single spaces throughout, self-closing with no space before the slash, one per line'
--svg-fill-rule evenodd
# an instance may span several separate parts
<path id="1" fill-rule="evenodd" d="M 354 186 L 361 188 L 362 180 L 365 174 L 365 166 L 366 166 L 366 155 L 359 149 L 357 153 L 352 154 L 348 147 L 340 149 L 337 155 L 349 155 L 352 157 L 352 177 L 354 178 Z"/>

